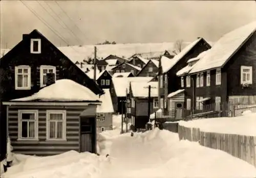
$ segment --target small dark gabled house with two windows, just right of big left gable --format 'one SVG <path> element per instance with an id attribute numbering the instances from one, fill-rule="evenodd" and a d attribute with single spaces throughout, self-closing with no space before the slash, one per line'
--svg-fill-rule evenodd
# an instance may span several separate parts
<path id="1" fill-rule="evenodd" d="M 98 76 L 97 76 L 97 84 L 100 86 L 100 88 L 108 88 L 108 89 L 111 89 L 111 86 L 112 86 L 112 76 L 111 74 L 106 71 L 106 70 L 102 70 Z"/>

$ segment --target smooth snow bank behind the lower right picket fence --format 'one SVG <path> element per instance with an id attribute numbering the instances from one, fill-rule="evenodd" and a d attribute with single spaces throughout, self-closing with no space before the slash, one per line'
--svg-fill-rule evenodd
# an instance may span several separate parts
<path id="1" fill-rule="evenodd" d="M 244 116 L 239 117 L 179 121 L 179 124 L 187 128 L 199 128 L 204 132 L 256 136 L 256 114 L 250 111 L 244 112 Z"/>

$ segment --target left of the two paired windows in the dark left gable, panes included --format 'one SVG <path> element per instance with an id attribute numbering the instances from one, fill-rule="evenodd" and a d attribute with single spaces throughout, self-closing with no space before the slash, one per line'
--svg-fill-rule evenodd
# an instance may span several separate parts
<path id="1" fill-rule="evenodd" d="M 30 90 L 31 88 L 30 66 L 15 66 L 15 89 Z"/>

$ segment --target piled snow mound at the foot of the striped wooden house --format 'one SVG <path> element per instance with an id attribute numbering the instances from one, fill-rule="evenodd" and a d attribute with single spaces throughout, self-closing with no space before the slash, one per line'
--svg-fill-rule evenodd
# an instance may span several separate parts
<path id="1" fill-rule="evenodd" d="M 107 158 L 89 152 L 68 151 L 48 157 L 31 156 L 12 166 L 3 178 L 81 178 L 95 177 L 108 161 Z M 22 166 L 20 166 L 22 165 Z M 19 170 L 17 170 L 19 166 Z"/>

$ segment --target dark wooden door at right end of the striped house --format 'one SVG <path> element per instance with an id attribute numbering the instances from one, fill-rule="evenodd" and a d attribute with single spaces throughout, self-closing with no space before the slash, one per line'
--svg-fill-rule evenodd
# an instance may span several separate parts
<path id="1" fill-rule="evenodd" d="M 95 118 L 80 118 L 80 151 L 95 152 Z"/>

